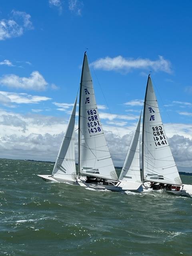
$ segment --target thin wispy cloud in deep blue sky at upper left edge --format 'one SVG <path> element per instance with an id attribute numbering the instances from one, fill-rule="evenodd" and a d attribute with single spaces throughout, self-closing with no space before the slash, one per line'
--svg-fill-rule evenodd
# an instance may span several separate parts
<path id="1" fill-rule="evenodd" d="M 6 40 L 7 38 L 21 36 L 24 30 L 33 29 L 32 22 L 30 21 L 30 14 L 26 12 L 19 12 L 12 10 L 12 15 L 15 20 L 0 20 L 0 40 Z"/>

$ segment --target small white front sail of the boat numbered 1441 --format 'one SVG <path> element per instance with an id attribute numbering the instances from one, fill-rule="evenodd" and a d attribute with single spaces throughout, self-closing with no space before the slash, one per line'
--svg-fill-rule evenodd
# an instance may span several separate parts
<path id="1" fill-rule="evenodd" d="M 139 136 L 140 136 L 141 116 L 138 120 L 136 131 L 132 138 L 126 160 L 124 162 L 119 180 L 141 183 L 140 175 L 140 151 L 139 151 Z"/>

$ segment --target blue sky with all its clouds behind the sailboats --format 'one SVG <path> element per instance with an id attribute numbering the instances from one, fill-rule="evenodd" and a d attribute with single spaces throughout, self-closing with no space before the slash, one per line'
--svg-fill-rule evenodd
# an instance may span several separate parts
<path id="1" fill-rule="evenodd" d="M 192 172 L 191 10 L 189 0 L 1 0 L 0 158 L 55 161 L 87 50 L 114 165 L 150 73 L 178 170 Z"/>

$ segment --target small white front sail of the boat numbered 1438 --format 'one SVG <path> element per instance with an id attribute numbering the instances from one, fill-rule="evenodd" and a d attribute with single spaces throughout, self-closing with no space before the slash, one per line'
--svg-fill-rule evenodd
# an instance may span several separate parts
<path id="1" fill-rule="evenodd" d="M 75 168 L 75 112 L 77 98 L 60 146 L 52 176 L 61 180 L 76 180 Z"/>

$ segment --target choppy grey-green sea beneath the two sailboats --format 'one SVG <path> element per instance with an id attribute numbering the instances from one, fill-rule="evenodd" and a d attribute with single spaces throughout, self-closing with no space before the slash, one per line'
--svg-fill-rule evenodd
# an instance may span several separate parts
<path id="1" fill-rule="evenodd" d="M 37 176 L 53 166 L 0 159 L 0 256 L 192 256 L 192 198 Z M 181 178 L 192 184 L 192 176 Z"/>

